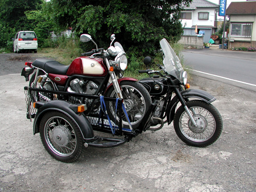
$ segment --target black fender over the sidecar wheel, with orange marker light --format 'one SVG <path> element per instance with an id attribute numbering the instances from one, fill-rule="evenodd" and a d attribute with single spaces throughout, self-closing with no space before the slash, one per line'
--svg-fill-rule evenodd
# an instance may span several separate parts
<path id="1" fill-rule="evenodd" d="M 36 107 L 38 111 L 33 124 L 34 134 L 39 133 L 39 124 L 45 113 L 49 111 L 59 111 L 68 115 L 77 124 L 84 140 L 92 139 L 94 137 L 92 125 L 86 116 L 82 113 L 75 112 L 74 109 L 77 109 L 76 107 L 77 105 L 63 100 L 51 100 L 45 103 L 38 103 L 38 106 Z"/>

